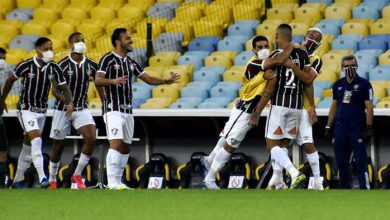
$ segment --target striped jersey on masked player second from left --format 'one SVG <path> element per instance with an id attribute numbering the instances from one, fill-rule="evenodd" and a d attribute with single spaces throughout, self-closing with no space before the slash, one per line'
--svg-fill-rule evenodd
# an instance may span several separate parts
<path id="1" fill-rule="evenodd" d="M 95 78 L 98 65 L 95 61 L 83 56 L 77 63 L 69 55 L 62 59 L 58 65 L 66 79 L 66 83 L 72 92 L 73 106 L 76 109 L 88 108 L 88 87 L 90 78 Z M 65 111 L 65 103 L 58 101 L 57 109 Z"/>

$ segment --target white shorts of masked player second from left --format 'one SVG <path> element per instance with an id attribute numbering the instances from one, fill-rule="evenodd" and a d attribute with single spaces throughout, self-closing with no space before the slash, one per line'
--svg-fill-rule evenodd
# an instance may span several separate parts
<path id="1" fill-rule="evenodd" d="M 71 118 L 66 117 L 66 111 L 55 110 L 51 123 L 50 138 L 63 140 L 70 134 L 71 125 L 78 130 L 85 125 L 95 125 L 91 113 L 83 109 L 72 113 Z"/>

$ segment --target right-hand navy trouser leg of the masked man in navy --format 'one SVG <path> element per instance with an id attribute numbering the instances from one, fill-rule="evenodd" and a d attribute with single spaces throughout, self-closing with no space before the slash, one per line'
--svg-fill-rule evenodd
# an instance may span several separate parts
<path id="1" fill-rule="evenodd" d="M 368 179 L 368 158 L 366 145 L 361 137 L 362 132 L 350 132 L 348 142 L 352 147 L 353 155 L 356 162 L 356 175 L 359 180 L 360 189 L 370 189 Z"/>

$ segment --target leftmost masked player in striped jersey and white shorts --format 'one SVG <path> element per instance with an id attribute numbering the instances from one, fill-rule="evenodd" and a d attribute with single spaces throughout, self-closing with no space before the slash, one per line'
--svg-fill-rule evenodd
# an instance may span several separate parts
<path id="1" fill-rule="evenodd" d="M 22 78 L 22 91 L 18 104 L 18 119 L 22 125 L 25 136 L 23 148 L 18 160 L 18 168 L 13 188 L 23 188 L 24 172 L 32 162 L 38 172 L 42 188 L 50 183 L 43 169 L 41 132 L 46 119 L 47 99 L 50 82 L 57 84 L 65 97 L 67 115 L 73 111 L 72 93 L 66 86 L 61 68 L 52 62 L 54 53 L 50 39 L 41 37 L 35 42 L 36 56 L 21 62 L 5 83 L 3 95 L 0 100 L 0 113 L 7 109 L 5 99 L 16 80 Z"/>

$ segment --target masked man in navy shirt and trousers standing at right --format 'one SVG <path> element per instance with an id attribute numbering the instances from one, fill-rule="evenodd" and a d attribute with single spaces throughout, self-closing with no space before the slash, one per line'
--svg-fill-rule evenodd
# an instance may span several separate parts
<path id="1" fill-rule="evenodd" d="M 334 125 L 333 150 L 339 170 L 341 189 L 351 188 L 349 161 L 351 152 L 356 160 L 356 172 L 361 189 L 369 189 L 367 152 L 363 140 L 372 134 L 373 91 L 371 83 L 357 75 L 356 58 L 342 59 L 345 77 L 333 84 L 333 102 L 329 110 L 325 136 Z"/>

